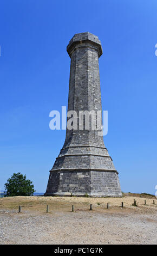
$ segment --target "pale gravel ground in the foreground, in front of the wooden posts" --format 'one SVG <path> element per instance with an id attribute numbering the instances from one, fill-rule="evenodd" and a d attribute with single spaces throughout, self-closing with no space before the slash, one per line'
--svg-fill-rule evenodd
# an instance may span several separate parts
<path id="1" fill-rule="evenodd" d="M 156 212 L 0 211 L 1 244 L 156 244 Z"/>

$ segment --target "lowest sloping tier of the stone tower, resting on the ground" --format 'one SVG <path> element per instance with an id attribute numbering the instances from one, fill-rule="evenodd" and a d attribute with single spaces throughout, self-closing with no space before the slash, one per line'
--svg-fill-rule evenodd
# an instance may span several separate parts
<path id="1" fill-rule="evenodd" d="M 116 171 L 51 170 L 44 196 L 122 197 Z"/>

